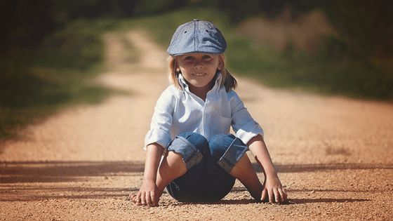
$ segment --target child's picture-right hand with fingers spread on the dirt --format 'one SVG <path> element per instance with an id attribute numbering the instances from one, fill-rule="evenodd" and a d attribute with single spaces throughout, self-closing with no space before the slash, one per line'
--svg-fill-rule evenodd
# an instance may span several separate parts
<path id="1" fill-rule="evenodd" d="M 270 203 L 284 203 L 287 197 L 288 195 L 277 175 L 267 175 L 260 200 L 269 201 Z"/>

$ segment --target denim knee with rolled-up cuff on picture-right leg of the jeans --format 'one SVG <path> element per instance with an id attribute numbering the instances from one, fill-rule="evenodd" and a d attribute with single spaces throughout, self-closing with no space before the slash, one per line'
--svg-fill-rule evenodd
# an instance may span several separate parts
<path id="1" fill-rule="evenodd" d="M 232 134 L 215 135 L 208 142 L 211 156 L 218 166 L 229 173 L 239 162 L 248 147 Z"/>

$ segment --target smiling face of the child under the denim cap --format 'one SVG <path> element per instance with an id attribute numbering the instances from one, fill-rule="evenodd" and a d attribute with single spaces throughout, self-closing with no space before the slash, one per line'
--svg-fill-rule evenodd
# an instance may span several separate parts
<path id="1" fill-rule="evenodd" d="M 198 88 L 211 86 L 215 72 L 222 68 L 220 55 L 207 53 L 179 55 L 176 62 L 176 71 L 181 72 L 189 84 Z"/>

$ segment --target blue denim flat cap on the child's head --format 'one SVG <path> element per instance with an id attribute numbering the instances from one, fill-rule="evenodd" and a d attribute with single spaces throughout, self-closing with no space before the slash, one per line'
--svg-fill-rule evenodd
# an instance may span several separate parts
<path id="1" fill-rule="evenodd" d="M 227 41 L 211 22 L 194 19 L 176 29 L 168 47 L 170 55 L 187 53 L 221 54 L 227 49 Z"/>

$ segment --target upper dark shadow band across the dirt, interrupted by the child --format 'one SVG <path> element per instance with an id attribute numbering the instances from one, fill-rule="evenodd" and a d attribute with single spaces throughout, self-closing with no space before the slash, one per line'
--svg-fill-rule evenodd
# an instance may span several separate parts
<path id="1" fill-rule="evenodd" d="M 257 173 L 260 166 L 253 163 Z M 279 173 L 302 173 L 321 170 L 393 169 L 392 164 L 331 163 L 277 165 Z M 144 163 L 133 161 L 20 161 L 0 164 L 0 184 L 20 182 L 68 182 L 80 177 L 116 175 L 116 173 L 142 173 Z"/>

